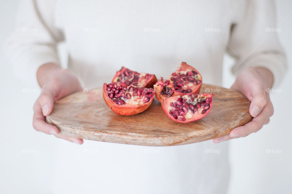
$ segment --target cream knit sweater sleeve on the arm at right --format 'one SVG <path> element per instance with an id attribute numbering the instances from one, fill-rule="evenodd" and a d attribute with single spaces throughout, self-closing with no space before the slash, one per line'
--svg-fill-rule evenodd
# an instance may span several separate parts
<path id="1" fill-rule="evenodd" d="M 278 86 L 287 70 L 286 55 L 280 45 L 273 0 L 244 1 L 246 10 L 233 25 L 227 52 L 236 59 L 232 73 L 247 67 L 265 67 L 273 73 L 273 87 Z"/>

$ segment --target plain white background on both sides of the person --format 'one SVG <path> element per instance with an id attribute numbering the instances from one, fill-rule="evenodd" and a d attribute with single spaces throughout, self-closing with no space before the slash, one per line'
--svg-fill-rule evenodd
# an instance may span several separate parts
<path id="1" fill-rule="evenodd" d="M 13 31 L 17 5 L 17 0 L 0 0 L 0 45 Z M 230 141 L 229 193 L 291 193 L 292 2 L 277 1 L 276 9 L 280 42 L 287 53 L 289 69 L 275 88 L 280 92 L 271 93 L 275 113 L 269 125 L 248 137 Z M 30 193 L 45 193 L 52 168 L 50 158 L 60 140 L 32 127 L 32 106 L 39 88 L 15 77 L 3 52 L 0 65 L 0 193 L 23 193 L 28 188 Z M 232 59 L 226 56 L 223 86 L 227 88 L 234 81 L 229 73 L 231 65 Z"/>

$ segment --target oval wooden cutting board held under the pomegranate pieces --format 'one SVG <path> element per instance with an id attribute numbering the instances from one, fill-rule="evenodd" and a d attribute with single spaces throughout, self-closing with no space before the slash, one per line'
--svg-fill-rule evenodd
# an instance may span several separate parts
<path id="1" fill-rule="evenodd" d="M 205 89 L 210 89 L 211 92 Z M 144 112 L 121 116 L 103 100 L 102 89 L 78 92 L 55 102 L 46 117 L 61 134 L 103 142 L 143 146 L 174 146 L 214 139 L 252 120 L 249 100 L 239 92 L 203 84 L 201 93 L 213 93 L 210 113 L 200 120 L 178 123 L 169 119 L 158 101 Z"/>

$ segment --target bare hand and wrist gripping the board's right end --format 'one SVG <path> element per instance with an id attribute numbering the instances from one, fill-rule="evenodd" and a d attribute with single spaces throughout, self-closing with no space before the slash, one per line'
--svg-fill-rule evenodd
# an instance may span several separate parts
<path id="1" fill-rule="evenodd" d="M 259 131 L 263 125 L 269 123 L 269 117 L 273 115 L 274 108 L 269 97 L 267 88 L 273 84 L 273 75 L 266 68 L 248 68 L 242 71 L 231 89 L 241 92 L 249 101 L 249 113 L 253 119 L 251 122 L 233 129 L 229 135 L 213 139 L 219 143 L 229 139 L 245 137 L 253 132 Z"/>

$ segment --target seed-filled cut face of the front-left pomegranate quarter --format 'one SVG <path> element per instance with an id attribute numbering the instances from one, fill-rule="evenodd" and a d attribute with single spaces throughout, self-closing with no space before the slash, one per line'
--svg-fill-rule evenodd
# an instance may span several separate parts
<path id="1" fill-rule="evenodd" d="M 115 83 L 106 85 L 106 91 L 110 99 L 118 105 L 143 105 L 151 101 L 154 95 L 152 88 L 143 88 L 137 86 L 118 86 Z"/>

